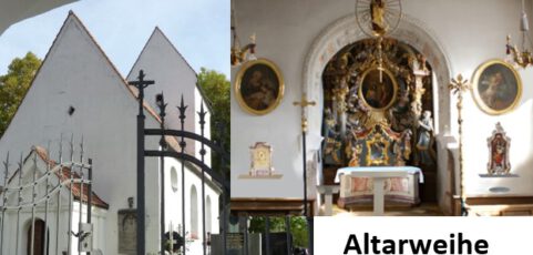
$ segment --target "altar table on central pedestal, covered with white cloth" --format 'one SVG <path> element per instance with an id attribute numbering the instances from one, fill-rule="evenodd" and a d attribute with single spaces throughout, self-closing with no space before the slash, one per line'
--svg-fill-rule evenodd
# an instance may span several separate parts
<path id="1" fill-rule="evenodd" d="M 335 182 L 340 182 L 341 175 L 353 177 L 369 177 L 373 182 L 373 215 L 383 215 L 385 181 L 391 177 L 407 177 L 408 174 L 419 174 L 419 182 L 423 183 L 422 171 L 416 166 L 351 166 L 337 170 Z"/>

